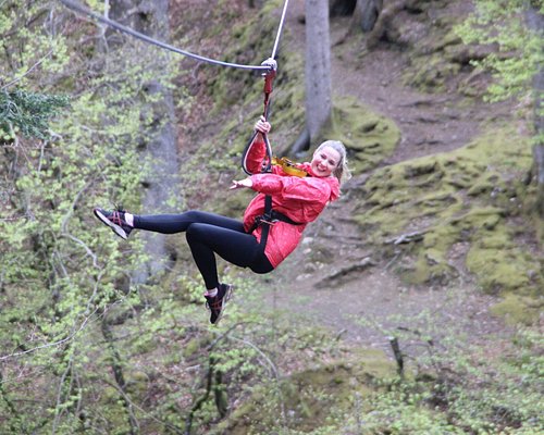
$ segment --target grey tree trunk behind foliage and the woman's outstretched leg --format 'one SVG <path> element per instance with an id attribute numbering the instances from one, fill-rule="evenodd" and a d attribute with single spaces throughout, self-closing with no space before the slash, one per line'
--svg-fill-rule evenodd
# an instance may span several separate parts
<path id="1" fill-rule="evenodd" d="M 110 15 L 114 20 L 159 40 L 168 41 L 169 0 L 115 0 L 111 2 Z M 169 54 L 157 47 L 143 44 L 141 58 L 154 58 L 148 67 L 151 72 L 148 83 L 143 87 L 146 97 L 153 99 L 152 103 L 144 104 L 144 112 L 151 115 L 151 130 L 146 130 L 149 139 L 144 144 L 144 159 L 149 163 L 150 171 L 145 181 L 143 208 L 146 213 L 171 212 L 169 200 L 175 198 L 178 189 L 178 156 L 174 129 L 174 101 L 172 92 L 165 88 L 160 78 L 168 71 Z M 151 54 L 151 55 L 149 55 Z M 135 60 L 137 62 L 138 60 Z M 166 239 L 163 234 L 145 233 L 146 251 L 150 260 L 147 270 L 139 271 L 136 281 L 145 282 L 149 276 L 162 272 L 169 258 Z"/>

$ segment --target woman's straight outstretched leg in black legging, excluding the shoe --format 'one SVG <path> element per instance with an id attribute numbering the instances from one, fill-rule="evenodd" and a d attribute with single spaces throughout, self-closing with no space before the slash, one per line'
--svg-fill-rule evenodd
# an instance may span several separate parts
<path id="1" fill-rule="evenodd" d="M 198 210 L 190 210 L 180 214 L 134 215 L 135 228 L 163 234 L 185 232 L 190 224 L 195 223 L 244 232 L 244 224 L 240 221 Z"/>

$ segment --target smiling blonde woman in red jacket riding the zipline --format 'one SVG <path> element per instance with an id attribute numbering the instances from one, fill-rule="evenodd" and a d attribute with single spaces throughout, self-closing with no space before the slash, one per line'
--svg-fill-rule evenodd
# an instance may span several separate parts
<path id="1" fill-rule="evenodd" d="M 195 210 L 181 214 L 133 215 L 121 210 L 95 209 L 95 215 L 124 239 L 134 228 L 163 234 L 185 232 L 205 281 L 203 296 L 212 324 L 219 322 L 232 291 L 231 285 L 219 282 L 215 253 L 256 273 L 273 271 L 296 248 L 306 225 L 314 221 L 330 201 L 338 198 L 341 181 L 349 177 L 346 149 L 334 140 L 321 144 L 311 162 L 297 165 L 308 174 L 306 177 L 289 175 L 277 165 L 272 166 L 271 173 L 259 173 L 265 157 L 263 135 L 270 128 L 263 117 L 256 123 L 257 135 L 246 159 L 247 169 L 255 175 L 233 181 L 231 186 L 231 189 L 249 188 L 258 192 L 247 207 L 243 222 Z"/>

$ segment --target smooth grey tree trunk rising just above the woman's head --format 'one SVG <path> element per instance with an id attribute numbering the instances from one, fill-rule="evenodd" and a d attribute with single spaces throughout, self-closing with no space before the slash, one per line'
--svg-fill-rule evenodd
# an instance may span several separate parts
<path id="1" fill-rule="evenodd" d="M 331 119 L 329 1 L 306 0 L 306 125 L 310 140 Z"/>

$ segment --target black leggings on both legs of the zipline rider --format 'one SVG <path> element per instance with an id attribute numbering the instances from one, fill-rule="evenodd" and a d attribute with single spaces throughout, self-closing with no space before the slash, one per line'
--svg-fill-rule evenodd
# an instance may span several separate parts
<path id="1" fill-rule="evenodd" d="M 244 231 L 242 222 L 231 217 L 197 210 L 181 214 L 135 215 L 134 227 L 162 234 L 186 232 L 193 258 L 208 289 L 219 285 L 213 252 L 255 273 L 269 273 L 274 269 L 255 236 Z"/>

